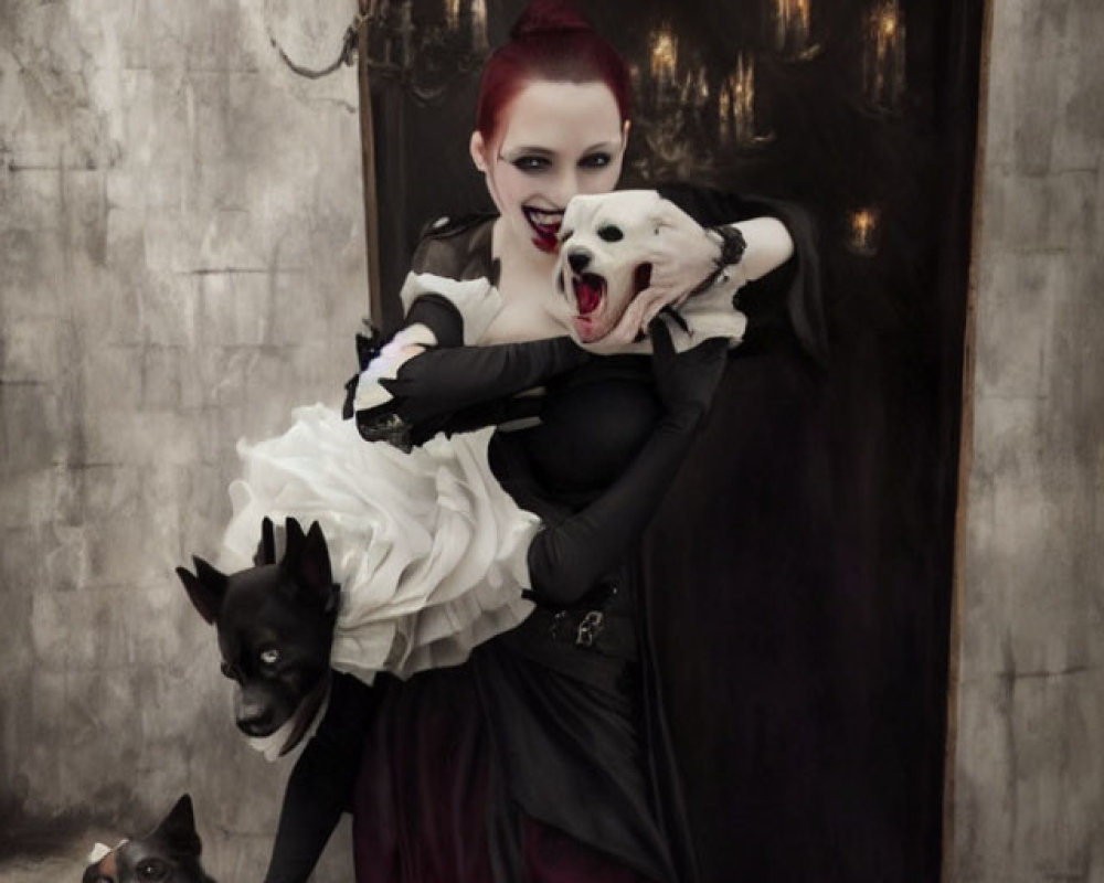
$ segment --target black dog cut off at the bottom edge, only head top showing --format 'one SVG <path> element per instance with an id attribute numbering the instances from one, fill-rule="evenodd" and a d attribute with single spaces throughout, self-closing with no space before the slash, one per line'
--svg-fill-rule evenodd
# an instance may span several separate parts
<path id="1" fill-rule="evenodd" d="M 125 840 L 89 864 L 83 883 L 215 883 L 200 865 L 202 851 L 185 794 L 146 837 Z"/>

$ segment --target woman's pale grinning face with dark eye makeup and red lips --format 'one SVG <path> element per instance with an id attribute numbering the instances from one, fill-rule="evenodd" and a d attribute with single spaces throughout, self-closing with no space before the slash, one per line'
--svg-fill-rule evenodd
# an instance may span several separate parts
<path id="1" fill-rule="evenodd" d="M 567 200 L 614 189 L 627 135 L 604 83 L 526 85 L 503 108 L 493 139 L 471 136 L 471 157 L 502 216 L 503 245 L 555 254 Z"/>

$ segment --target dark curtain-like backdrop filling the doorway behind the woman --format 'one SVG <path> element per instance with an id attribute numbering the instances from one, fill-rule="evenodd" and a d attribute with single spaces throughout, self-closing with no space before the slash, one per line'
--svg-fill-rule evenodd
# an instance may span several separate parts
<path id="1" fill-rule="evenodd" d="M 493 45 L 523 3 L 487 6 Z M 885 3 L 809 0 L 784 45 L 784 0 L 581 6 L 645 72 L 625 184 L 783 198 L 820 231 L 828 363 L 785 336 L 734 360 L 645 549 L 704 879 L 936 881 L 983 2 L 901 0 L 890 98 L 869 78 Z M 662 26 L 707 88 L 683 153 L 657 159 Z M 741 51 L 753 137 L 713 151 Z M 385 325 L 422 225 L 489 208 L 467 155 L 475 89 L 458 75 L 424 104 L 376 77 Z"/>

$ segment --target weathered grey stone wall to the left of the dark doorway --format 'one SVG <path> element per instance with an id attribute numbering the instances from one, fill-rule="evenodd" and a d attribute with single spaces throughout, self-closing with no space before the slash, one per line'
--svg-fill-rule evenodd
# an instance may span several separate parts
<path id="1" fill-rule="evenodd" d="M 354 369 L 355 74 L 269 44 L 321 66 L 354 10 L 0 0 L 6 823 L 121 834 L 190 790 L 210 870 L 259 877 L 289 764 L 235 735 L 172 568 L 216 552 L 235 440 Z"/>

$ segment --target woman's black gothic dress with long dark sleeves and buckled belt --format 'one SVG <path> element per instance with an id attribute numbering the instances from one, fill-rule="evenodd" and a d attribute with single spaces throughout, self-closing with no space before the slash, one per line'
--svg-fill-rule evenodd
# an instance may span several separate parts
<path id="1" fill-rule="evenodd" d="M 714 223 L 778 213 L 683 195 L 704 200 L 712 215 L 677 199 Z M 799 245 L 808 243 L 799 217 L 783 220 Z M 415 268 L 493 278 L 490 225 L 438 228 Z M 795 259 L 766 280 L 783 296 L 758 321 L 764 339 L 775 325 L 802 322 L 817 338 L 818 312 L 806 309 L 819 302 L 806 290 L 809 270 Z M 359 883 L 693 881 L 631 553 L 693 427 L 669 425 L 647 358 L 592 359 L 564 340 L 461 348 L 461 317 L 432 295 L 412 306 L 413 321 L 432 327 L 443 345 L 400 372 L 394 401 L 372 417 L 397 414 L 414 443 L 539 417 L 498 433 L 491 465 L 522 508 L 562 529 L 549 535 L 563 542 L 533 546 L 537 611 L 464 666 L 407 682 L 384 677 L 371 690 L 337 677 L 328 716 L 289 783 L 267 880 L 305 879 L 350 805 Z M 512 395 L 542 382 L 540 398 Z M 361 743 L 347 804 L 350 746 Z"/>

